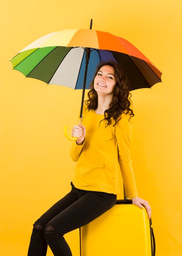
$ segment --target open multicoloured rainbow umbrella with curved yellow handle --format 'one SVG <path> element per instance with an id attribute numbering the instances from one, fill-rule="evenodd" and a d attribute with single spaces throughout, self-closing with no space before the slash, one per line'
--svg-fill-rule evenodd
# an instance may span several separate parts
<path id="1" fill-rule="evenodd" d="M 151 88 L 162 73 L 134 45 L 113 34 L 90 29 L 64 29 L 42 36 L 11 58 L 13 69 L 47 84 L 89 89 L 100 61 L 116 61 L 127 76 L 130 90 Z M 68 135 L 67 126 L 64 128 Z"/>

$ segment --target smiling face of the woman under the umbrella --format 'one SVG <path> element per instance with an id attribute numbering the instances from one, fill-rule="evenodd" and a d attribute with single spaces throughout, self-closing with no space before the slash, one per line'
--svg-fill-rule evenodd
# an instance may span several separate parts
<path id="1" fill-rule="evenodd" d="M 114 68 L 108 65 L 102 66 L 94 78 L 94 89 L 96 92 L 113 94 L 115 85 Z"/>

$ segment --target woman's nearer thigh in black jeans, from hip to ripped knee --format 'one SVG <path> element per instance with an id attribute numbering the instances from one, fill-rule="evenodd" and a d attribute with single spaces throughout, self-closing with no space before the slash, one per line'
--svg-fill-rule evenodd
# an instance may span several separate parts
<path id="1" fill-rule="evenodd" d="M 64 235 L 82 227 L 109 210 L 116 203 L 116 195 L 87 191 L 79 200 L 48 222 L 58 233 Z"/>

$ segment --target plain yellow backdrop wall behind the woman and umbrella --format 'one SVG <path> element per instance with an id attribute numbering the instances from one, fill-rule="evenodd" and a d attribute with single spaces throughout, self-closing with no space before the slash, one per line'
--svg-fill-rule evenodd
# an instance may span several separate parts
<path id="1" fill-rule="evenodd" d="M 81 99 L 80 91 L 25 79 L 8 60 L 50 32 L 89 28 L 90 18 L 163 72 L 163 83 L 132 92 L 131 155 L 139 196 L 152 207 L 156 256 L 182 255 L 181 13 L 181 0 L 1 3 L 0 255 L 25 256 L 35 220 L 70 190 L 75 164 L 63 126 L 77 123 Z M 79 256 L 78 231 L 66 238 Z"/>

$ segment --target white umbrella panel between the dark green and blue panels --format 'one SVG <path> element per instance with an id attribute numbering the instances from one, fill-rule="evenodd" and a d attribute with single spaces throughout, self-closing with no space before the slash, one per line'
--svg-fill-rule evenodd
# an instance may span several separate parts
<path id="1" fill-rule="evenodd" d="M 84 49 L 81 47 L 72 48 L 61 62 L 50 84 L 64 85 L 75 89 L 79 68 L 83 59 Z M 85 61 L 85 60 L 84 60 Z M 82 84 L 83 88 L 83 84 Z"/>

